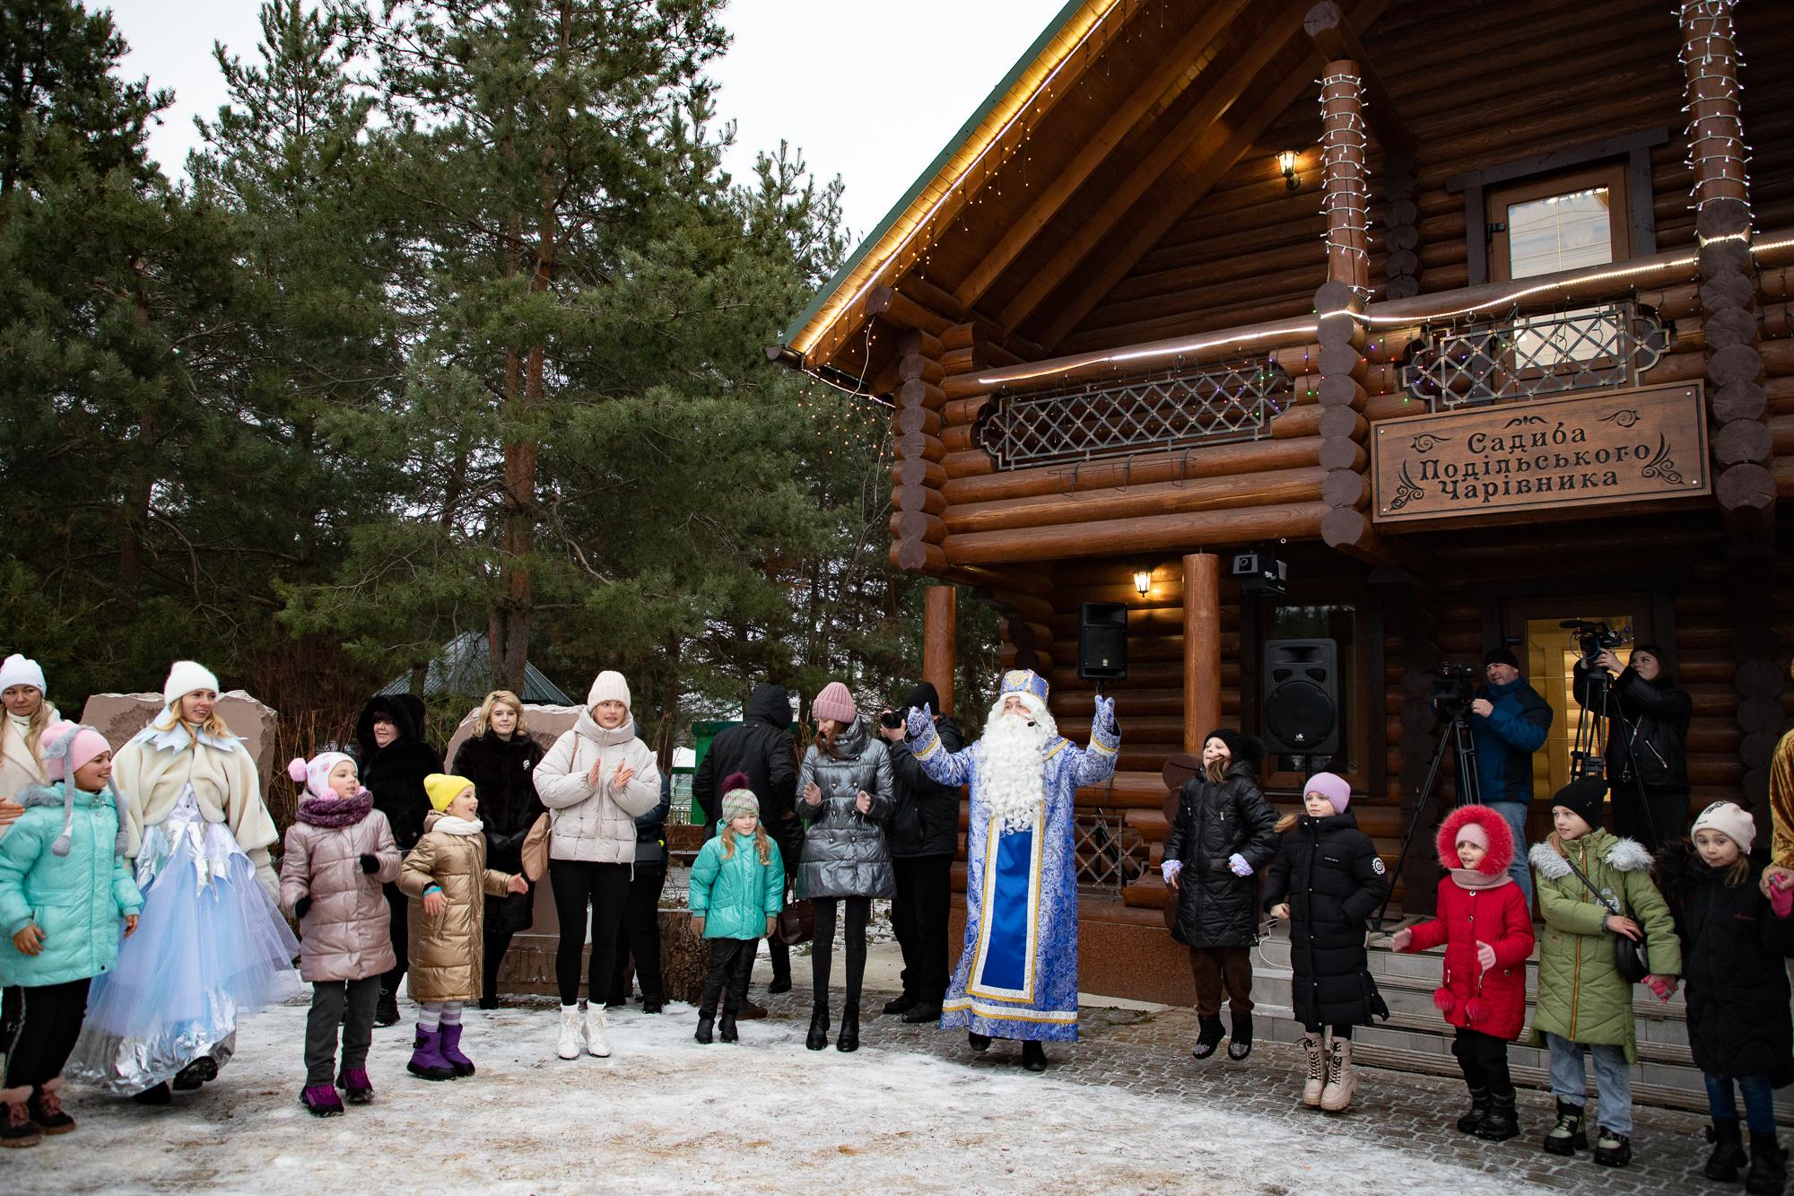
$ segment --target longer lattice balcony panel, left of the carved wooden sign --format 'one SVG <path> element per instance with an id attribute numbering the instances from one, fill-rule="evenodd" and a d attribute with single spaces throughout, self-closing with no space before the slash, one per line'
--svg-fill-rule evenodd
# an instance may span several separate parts
<path id="1" fill-rule="evenodd" d="M 1293 402 L 1274 361 L 1179 370 L 1103 386 L 997 395 L 976 440 L 997 469 L 1166 453 L 1254 440 Z"/>

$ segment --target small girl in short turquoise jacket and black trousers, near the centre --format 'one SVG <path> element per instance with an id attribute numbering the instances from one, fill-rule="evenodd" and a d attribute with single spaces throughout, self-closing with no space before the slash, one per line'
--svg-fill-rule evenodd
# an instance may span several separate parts
<path id="1" fill-rule="evenodd" d="M 710 1042 L 716 1000 L 723 998 L 723 1042 L 736 1042 L 736 1015 L 761 937 L 771 936 L 784 909 L 784 860 L 761 828 L 761 799 L 745 772 L 723 781 L 721 833 L 691 866 L 691 925 L 710 939 L 710 973 L 698 1006 L 698 1042 Z"/>

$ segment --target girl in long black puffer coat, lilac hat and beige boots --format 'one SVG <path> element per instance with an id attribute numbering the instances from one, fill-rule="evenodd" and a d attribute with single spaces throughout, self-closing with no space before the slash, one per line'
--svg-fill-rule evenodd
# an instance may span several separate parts
<path id="1" fill-rule="evenodd" d="M 1351 1104 L 1351 1027 L 1389 1018 L 1363 950 L 1365 923 L 1389 894 L 1389 871 L 1376 844 L 1346 808 L 1351 785 L 1317 772 L 1302 794 L 1302 813 L 1277 822 L 1283 846 L 1265 876 L 1265 907 L 1290 919 L 1290 1000 L 1308 1052 L 1304 1104 L 1329 1113 Z M 1322 1051 L 1322 1031 L 1333 1042 Z"/>

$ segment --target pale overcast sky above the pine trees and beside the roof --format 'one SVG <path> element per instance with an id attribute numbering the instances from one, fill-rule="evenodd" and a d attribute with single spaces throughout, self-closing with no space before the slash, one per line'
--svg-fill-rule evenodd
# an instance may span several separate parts
<path id="1" fill-rule="evenodd" d="M 222 41 L 244 59 L 260 40 L 257 0 L 111 0 L 129 43 L 127 77 L 172 88 L 149 145 L 178 172 L 199 140 L 194 115 L 224 102 L 212 61 Z M 868 232 L 988 95 L 1064 0 L 730 0 L 734 34 L 712 68 L 719 115 L 736 120 L 727 162 L 743 178 L 757 149 L 784 138 L 822 178 L 840 174 L 847 224 Z M 942 36 L 940 31 L 951 31 Z M 890 113 L 901 111 L 902 120 Z"/>

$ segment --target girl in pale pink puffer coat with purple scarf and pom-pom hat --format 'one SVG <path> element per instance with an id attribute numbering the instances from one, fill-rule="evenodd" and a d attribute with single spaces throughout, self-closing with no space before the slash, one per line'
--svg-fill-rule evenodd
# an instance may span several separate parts
<path id="1" fill-rule="evenodd" d="M 386 815 L 361 787 L 343 752 L 294 760 L 287 776 L 305 785 L 298 821 L 280 857 L 280 907 L 300 923 L 300 977 L 312 984 L 305 1022 L 305 1090 L 300 1103 L 318 1117 L 373 1099 L 368 1047 L 380 975 L 393 966 L 391 912 L 382 884 L 398 880 L 404 857 Z M 337 1025 L 343 1070 L 335 1068 Z"/>

